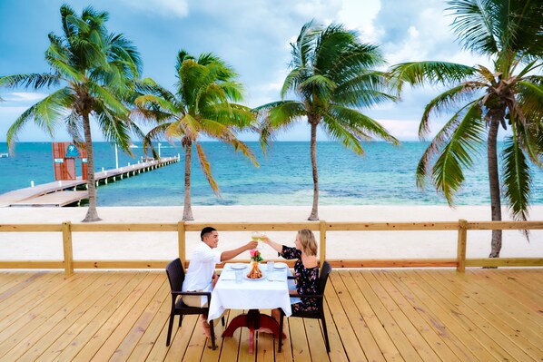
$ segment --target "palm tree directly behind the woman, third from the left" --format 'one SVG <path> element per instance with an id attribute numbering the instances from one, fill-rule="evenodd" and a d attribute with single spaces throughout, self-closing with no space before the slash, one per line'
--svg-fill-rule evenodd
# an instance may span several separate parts
<path id="1" fill-rule="evenodd" d="M 304 24 L 296 43 L 291 44 L 291 72 L 281 89 L 281 101 L 256 110 L 262 116 L 261 142 L 268 143 L 275 132 L 307 118 L 311 126 L 313 206 L 309 220 L 319 220 L 319 175 L 317 170 L 317 128 L 356 154 L 364 150 L 361 141 L 372 136 L 397 144 L 378 122 L 357 108 L 394 100 L 387 93 L 383 73 L 374 67 L 385 64 L 378 46 L 362 44 L 356 32 L 341 24 L 326 28 Z M 285 100 L 287 93 L 297 99 Z"/>

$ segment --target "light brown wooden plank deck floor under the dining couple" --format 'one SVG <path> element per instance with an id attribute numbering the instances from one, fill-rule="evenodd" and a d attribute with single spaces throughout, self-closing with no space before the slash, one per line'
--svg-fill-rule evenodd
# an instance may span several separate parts
<path id="1" fill-rule="evenodd" d="M 213 351 L 196 316 L 166 347 L 162 271 L 2 272 L 0 360 L 541 361 L 542 290 L 543 269 L 335 269 L 330 355 L 318 322 L 291 318 L 281 354 L 261 334 L 250 356 L 247 330 Z"/>

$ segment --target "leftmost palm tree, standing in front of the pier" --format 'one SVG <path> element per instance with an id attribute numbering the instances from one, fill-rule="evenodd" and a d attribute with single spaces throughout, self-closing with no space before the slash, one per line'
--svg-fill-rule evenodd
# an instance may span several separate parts
<path id="1" fill-rule="evenodd" d="M 40 89 L 61 88 L 47 95 L 21 114 L 7 132 L 13 150 L 17 134 L 25 124 L 34 121 L 52 137 L 54 128 L 64 123 L 74 142 L 87 152 L 89 209 L 83 221 L 100 220 L 96 211 L 94 186 L 94 154 L 90 116 L 94 115 L 108 141 L 116 142 L 129 152 L 129 131 L 137 128 L 128 119 L 129 110 L 123 103 L 133 93 L 133 81 L 141 71 L 140 55 L 122 34 L 108 34 L 108 14 L 86 7 L 81 16 L 68 5 L 60 8 L 64 34 L 49 34 L 51 44 L 45 61 L 51 73 L 26 73 L 0 78 L 0 86 Z"/>

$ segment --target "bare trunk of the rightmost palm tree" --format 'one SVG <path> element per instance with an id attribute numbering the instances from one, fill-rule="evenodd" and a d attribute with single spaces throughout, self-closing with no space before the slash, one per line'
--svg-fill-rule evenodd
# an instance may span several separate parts
<path id="1" fill-rule="evenodd" d="M 498 172 L 498 130 L 499 121 L 492 119 L 489 126 L 488 152 L 489 152 L 489 184 L 490 184 L 490 207 L 492 210 L 492 221 L 501 221 L 501 201 L 499 193 L 499 172 Z M 492 230 L 492 249 L 489 258 L 499 258 L 501 250 L 501 230 Z"/>

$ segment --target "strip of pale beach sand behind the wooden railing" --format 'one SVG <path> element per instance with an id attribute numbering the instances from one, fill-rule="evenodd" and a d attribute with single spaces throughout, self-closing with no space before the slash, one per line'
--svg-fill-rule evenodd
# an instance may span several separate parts
<path id="1" fill-rule="evenodd" d="M 193 206 L 196 222 L 302 222 L 311 208 L 305 206 Z M 84 219 L 86 208 L 0 208 L 0 223 L 73 223 Z M 102 222 L 177 222 L 182 207 L 102 207 Z M 489 206 L 321 206 L 326 221 L 469 221 L 490 220 Z M 503 210 L 504 220 L 509 220 Z M 530 220 L 543 220 L 543 206 L 530 210 Z M 234 249 L 251 240 L 251 233 L 220 231 L 219 249 Z M 294 231 L 265 231 L 282 244 L 293 246 Z M 457 231 L 337 231 L 327 233 L 327 259 L 456 258 Z M 317 235 L 317 240 L 319 236 Z M 199 233 L 187 233 L 187 258 Z M 174 232 L 74 232 L 74 259 L 173 259 L 177 256 Z M 277 254 L 262 244 L 264 259 Z M 468 258 L 486 258 L 490 231 L 468 232 Z M 501 257 L 543 257 L 543 230 L 532 230 L 528 242 L 518 230 L 505 230 Z M 58 232 L 0 233 L 0 259 L 62 259 Z M 236 259 L 249 259 L 243 253 Z"/>

